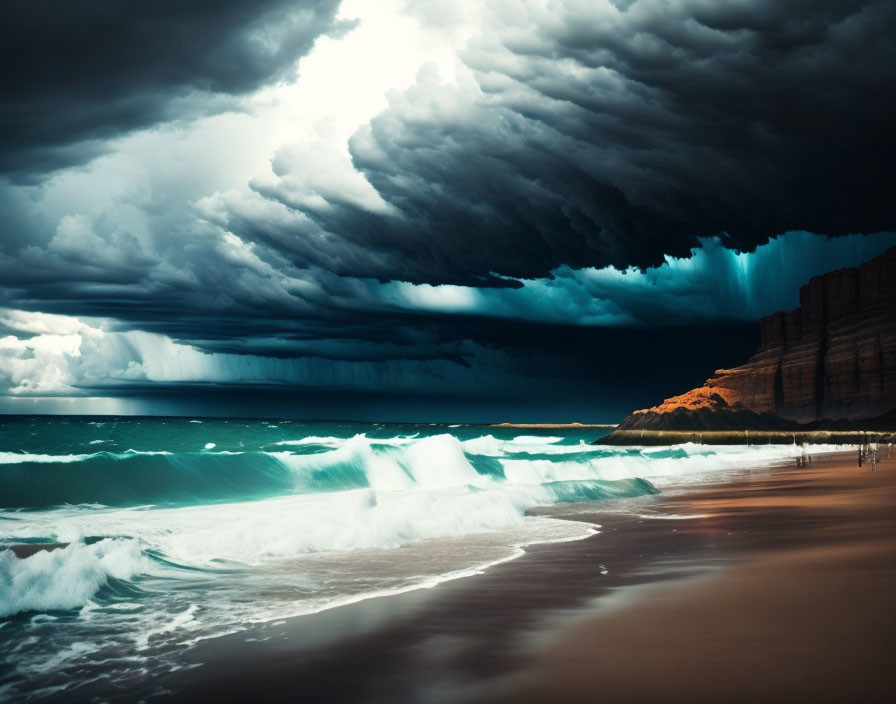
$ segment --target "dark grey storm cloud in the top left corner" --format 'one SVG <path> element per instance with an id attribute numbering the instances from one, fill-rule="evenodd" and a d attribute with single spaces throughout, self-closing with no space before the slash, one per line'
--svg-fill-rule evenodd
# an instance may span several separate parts
<path id="1" fill-rule="evenodd" d="M 339 28 L 338 0 L 0 5 L 0 172 L 33 180 L 102 140 L 231 106 Z"/>

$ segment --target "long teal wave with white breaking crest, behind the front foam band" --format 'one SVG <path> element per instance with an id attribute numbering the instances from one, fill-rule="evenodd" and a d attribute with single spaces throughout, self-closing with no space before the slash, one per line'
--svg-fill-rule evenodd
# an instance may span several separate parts
<path id="1" fill-rule="evenodd" d="M 559 437 L 452 435 L 350 438 L 310 436 L 274 450 L 133 450 L 50 455 L 0 453 L 0 508 L 65 505 L 184 506 L 325 494 L 353 489 L 494 488 L 556 482 L 687 481 L 763 463 L 786 449 L 607 448 Z M 214 445 L 214 443 L 207 443 Z M 792 448 L 792 452 L 799 452 Z M 599 497 L 598 497 L 599 498 Z M 548 498 L 550 501 L 549 492 Z"/>

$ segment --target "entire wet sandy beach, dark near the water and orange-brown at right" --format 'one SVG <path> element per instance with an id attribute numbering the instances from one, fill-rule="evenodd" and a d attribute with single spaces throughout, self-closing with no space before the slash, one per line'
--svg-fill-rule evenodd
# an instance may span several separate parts
<path id="1" fill-rule="evenodd" d="M 149 700 L 893 699 L 896 459 L 608 508 L 480 576 L 199 643 Z"/>

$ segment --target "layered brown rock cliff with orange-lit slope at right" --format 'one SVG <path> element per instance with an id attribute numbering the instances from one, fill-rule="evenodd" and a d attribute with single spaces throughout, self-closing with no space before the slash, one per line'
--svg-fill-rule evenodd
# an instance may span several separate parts
<path id="1" fill-rule="evenodd" d="M 892 417 L 896 247 L 811 279 L 799 308 L 763 318 L 759 330 L 759 350 L 746 364 L 635 411 L 619 430 L 833 427 Z"/>

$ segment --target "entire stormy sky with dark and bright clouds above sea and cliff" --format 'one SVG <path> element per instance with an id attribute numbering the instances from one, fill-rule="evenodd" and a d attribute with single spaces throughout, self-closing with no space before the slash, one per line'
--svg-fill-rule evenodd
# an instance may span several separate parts
<path id="1" fill-rule="evenodd" d="M 896 245 L 889 0 L 0 27 L 0 412 L 614 422 Z"/>

